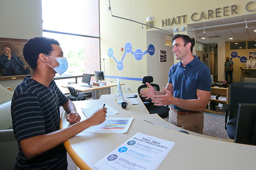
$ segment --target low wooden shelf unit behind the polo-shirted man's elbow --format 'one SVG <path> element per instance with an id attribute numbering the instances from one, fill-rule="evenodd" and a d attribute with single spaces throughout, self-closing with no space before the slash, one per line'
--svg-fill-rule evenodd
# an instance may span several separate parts
<path id="1" fill-rule="evenodd" d="M 218 103 L 222 103 L 222 104 L 229 104 L 229 91 L 230 88 L 218 88 L 218 87 L 211 87 L 211 93 L 212 94 L 218 94 L 220 96 L 227 96 L 227 101 L 225 100 L 217 100 L 217 99 L 210 99 L 210 101 L 215 101 L 215 104 L 218 105 Z M 221 112 L 217 112 L 217 111 L 212 111 L 212 110 L 207 110 L 204 109 L 205 112 L 211 112 L 211 113 L 217 113 L 217 114 L 223 114 L 225 115 L 225 113 L 221 113 Z"/>

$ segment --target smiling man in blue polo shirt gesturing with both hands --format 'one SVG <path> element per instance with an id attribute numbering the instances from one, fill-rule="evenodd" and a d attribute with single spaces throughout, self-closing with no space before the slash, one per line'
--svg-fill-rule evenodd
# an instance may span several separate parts
<path id="1" fill-rule="evenodd" d="M 211 96 L 210 69 L 193 56 L 195 40 L 187 35 L 176 34 L 172 37 L 172 52 L 181 60 L 169 71 L 169 80 L 162 91 L 155 92 L 149 88 L 143 92 L 152 98 L 154 105 L 172 105 L 169 111 L 169 122 L 178 127 L 203 133 L 203 110 Z"/>

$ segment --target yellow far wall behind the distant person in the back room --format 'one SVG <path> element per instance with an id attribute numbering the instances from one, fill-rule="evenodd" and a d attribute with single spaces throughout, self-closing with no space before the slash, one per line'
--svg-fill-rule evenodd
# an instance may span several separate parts
<path id="1" fill-rule="evenodd" d="M 237 41 L 237 42 L 239 42 L 239 41 Z M 230 42 L 225 43 L 225 48 L 226 48 L 226 57 L 229 57 L 230 59 L 231 59 L 230 54 L 232 51 L 236 51 L 238 53 L 238 56 L 240 56 L 240 57 L 242 57 L 242 56 L 247 57 L 248 60 L 249 60 L 248 52 L 256 51 L 256 48 L 255 49 L 243 49 L 243 50 L 230 50 Z M 247 43 L 246 43 L 246 48 L 247 48 Z M 226 61 L 226 57 L 225 57 L 225 61 Z M 241 77 L 240 67 L 246 67 L 246 63 L 241 63 L 238 57 L 232 58 L 232 61 L 234 62 L 233 82 L 240 82 L 240 77 Z M 223 63 L 223 65 L 224 65 L 224 63 Z"/>

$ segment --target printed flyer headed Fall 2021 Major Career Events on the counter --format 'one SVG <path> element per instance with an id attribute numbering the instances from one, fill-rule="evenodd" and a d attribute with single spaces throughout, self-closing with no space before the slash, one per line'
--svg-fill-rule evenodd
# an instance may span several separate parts
<path id="1" fill-rule="evenodd" d="M 94 167 L 100 170 L 156 170 L 174 145 L 174 142 L 137 133 Z"/>

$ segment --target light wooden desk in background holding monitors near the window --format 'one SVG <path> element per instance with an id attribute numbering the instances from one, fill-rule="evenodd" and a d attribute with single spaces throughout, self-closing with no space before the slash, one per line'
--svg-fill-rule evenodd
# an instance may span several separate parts
<path id="1" fill-rule="evenodd" d="M 111 89 L 110 87 L 117 86 L 117 83 L 114 82 L 106 82 L 106 86 L 92 86 L 92 87 L 83 87 L 81 86 L 82 83 L 78 84 L 70 84 L 68 85 L 69 87 L 74 87 L 76 91 L 79 92 L 88 92 L 92 91 L 92 99 L 100 99 L 100 96 L 102 94 L 111 94 Z M 121 85 L 124 85 L 124 83 L 121 83 Z M 61 86 L 64 88 L 68 88 L 67 86 Z"/>

